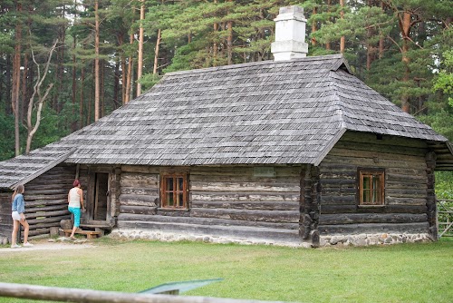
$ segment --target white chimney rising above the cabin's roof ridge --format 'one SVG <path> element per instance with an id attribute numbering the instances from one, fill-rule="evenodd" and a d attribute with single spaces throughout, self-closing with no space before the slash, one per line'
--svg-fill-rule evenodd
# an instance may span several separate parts
<path id="1" fill-rule="evenodd" d="M 300 6 L 280 7 L 275 21 L 275 42 L 271 44 L 271 52 L 275 61 L 304 58 L 308 53 L 305 43 L 304 8 Z"/>

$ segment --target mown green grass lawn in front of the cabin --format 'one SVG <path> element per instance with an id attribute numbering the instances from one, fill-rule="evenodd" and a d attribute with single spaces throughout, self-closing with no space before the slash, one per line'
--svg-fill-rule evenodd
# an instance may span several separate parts
<path id="1" fill-rule="evenodd" d="M 93 244 L 96 247 L 90 249 L 0 252 L 0 281 L 138 292 L 173 281 L 223 278 L 183 295 L 298 302 L 453 302 L 453 239 L 342 249 L 107 238 Z M 0 302 L 26 300 L 0 298 Z"/>

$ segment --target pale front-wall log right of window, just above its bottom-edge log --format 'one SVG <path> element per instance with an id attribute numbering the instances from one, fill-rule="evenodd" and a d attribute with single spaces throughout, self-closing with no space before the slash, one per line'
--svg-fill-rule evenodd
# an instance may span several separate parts
<path id="1" fill-rule="evenodd" d="M 211 192 L 190 191 L 190 200 L 207 201 L 298 201 L 300 191 L 294 192 Z"/>

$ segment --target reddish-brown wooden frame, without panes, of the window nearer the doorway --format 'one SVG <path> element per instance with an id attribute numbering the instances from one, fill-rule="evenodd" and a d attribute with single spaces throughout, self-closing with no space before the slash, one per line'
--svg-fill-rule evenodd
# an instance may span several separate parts
<path id="1" fill-rule="evenodd" d="M 173 179 L 173 190 L 168 190 L 169 179 Z M 182 189 L 178 188 L 178 178 L 182 178 Z M 178 195 L 182 194 L 182 205 L 178 205 Z M 173 195 L 173 205 L 167 205 L 167 198 Z M 188 210 L 188 172 L 160 172 L 160 208 L 164 210 Z"/>

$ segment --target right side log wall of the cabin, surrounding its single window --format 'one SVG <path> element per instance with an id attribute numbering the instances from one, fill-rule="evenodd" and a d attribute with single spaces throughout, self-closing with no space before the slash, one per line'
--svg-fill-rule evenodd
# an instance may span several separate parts
<path id="1" fill-rule="evenodd" d="M 345 133 L 319 166 L 318 230 L 323 235 L 428 232 L 427 152 L 426 144 L 417 140 Z M 385 169 L 385 206 L 358 206 L 359 167 Z"/>

